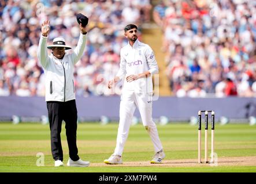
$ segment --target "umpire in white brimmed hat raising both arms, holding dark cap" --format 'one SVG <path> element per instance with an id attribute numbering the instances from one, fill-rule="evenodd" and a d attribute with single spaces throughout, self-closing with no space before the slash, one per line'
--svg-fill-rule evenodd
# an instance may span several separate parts
<path id="1" fill-rule="evenodd" d="M 86 24 L 83 25 L 83 18 Z M 79 21 L 79 20 L 77 20 Z M 80 37 L 73 53 L 61 37 L 55 38 L 53 44 L 46 47 L 47 35 L 50 31 L 50 21 L 42 24 L 38 58 L 46 76 L 46 103 L 51 131 L 51 154 L 55 160 L 54 166 L 63 166 L 63 151 L 61 146 L 61 124 L 65 121 L 66 139 L 68 141 L 69 159 L 67 166 L 87 167 L 90 162 L 81 160 L 76 145 L 77 109 L 75 101 L 75 86 L 73 78 L 74 65 L 79 61 L 86 48 L 87 17 L 80 18 Z M 47 48 L 51 49 L 50 55 Z"/>

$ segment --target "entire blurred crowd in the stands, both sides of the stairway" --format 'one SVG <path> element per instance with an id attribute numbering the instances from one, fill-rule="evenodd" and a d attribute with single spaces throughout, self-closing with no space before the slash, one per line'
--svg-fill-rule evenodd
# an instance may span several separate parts
<path id="1" fill-rule="evenodd" d="M 40 24 L 49 18 L 48 45 L 61 36 L 75 48 L 80 34 L 75 16 L 83 13 L 89 32 L 86 52 L 75 66 L 78 96 L 112 95 L 106 83 L 117 73 L 120 49 L 127 44 L 124 26 L 141 29 L 145 23 L 162 30 L 162 48 L 155 52 L 166 53 L 161 72 L 173 95 L 256 96 L 256 1 L 154 2 L 0 0 L 0 95 L 44 96 L 37 58 Z"/>

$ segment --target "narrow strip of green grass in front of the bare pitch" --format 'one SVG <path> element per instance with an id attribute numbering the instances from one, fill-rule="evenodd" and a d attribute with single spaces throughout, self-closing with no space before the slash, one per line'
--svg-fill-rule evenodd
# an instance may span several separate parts
<path id="1" fill-rule="evenodd" d="M 256 166 L 218 167 L 0 167 L 1 173 L 255 173 Z"/>

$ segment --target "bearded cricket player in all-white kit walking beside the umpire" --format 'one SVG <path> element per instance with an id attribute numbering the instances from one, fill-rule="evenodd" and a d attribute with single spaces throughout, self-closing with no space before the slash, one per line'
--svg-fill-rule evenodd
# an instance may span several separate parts
<path id="1" fill-rule="evenodd" d="M 138 40 L 136 25 L 129 24 L 125 26 L 124 32 L 128 39 L 128 45 L 123 47 L 120 52 L 120 70 L 116 77 L 108 82 L 108 87 L 111 89 L 114 83 L 125 77 L 120 102 L 117 143 L 114 154 L 109 159 L 104 160 L 104 163 L 123 163 L 124 144 L 128 137 L 136 107 L 139 109 L 142 123 L 149 132 L 154 145 L 155 155 L 150 163 L 161 163 L 165 154 L 158 136 L 157 126 L 152 118 L 152 75 L 158 73 L 157 61 L 150 46 Z"/>

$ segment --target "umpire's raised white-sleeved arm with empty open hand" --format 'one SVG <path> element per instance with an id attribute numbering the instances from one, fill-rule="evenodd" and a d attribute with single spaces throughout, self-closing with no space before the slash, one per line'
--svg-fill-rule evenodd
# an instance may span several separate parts
<path id="1" fill-rule="evenodd" d="M 47 54 L 46 42 L 47 36 L 50 32 L 50 21 L 46 20 L 42 23 L 41 28 L 42 34 L 40 36 L 39 47 L 38 47 L 38 58 L 40 64 L 42 64 L 43 68 L 47 67 L 47 63 L 49 63 L 49 56 Z"/>

